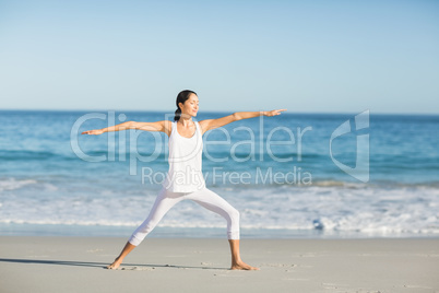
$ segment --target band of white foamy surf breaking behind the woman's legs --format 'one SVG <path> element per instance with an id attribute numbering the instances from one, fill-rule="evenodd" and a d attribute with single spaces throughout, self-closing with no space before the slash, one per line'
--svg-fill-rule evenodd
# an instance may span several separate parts
<path id="1" fill-rule="evenodd" d="M 26 184 L 34 183 L 27 180 Z M 13 183 L 23 186 L 24 183 Z M 5 186 L 5 185 L 3 185 Z M 357 232 L 365 235 L 439 234 L 439 189 L 432 187 L 352 186 L 212 188 L 240 211 L 241 227 Z M 15 188 L 9 189 L 16 191 Z M 147 215 L 156 191 L 118 195 L 110 189 L 38 196 L 2 192 L 0 223 L 137 226 Z M 174 207 L 159 226 L 225 227 L 217 214 L 197 203 Z"/>

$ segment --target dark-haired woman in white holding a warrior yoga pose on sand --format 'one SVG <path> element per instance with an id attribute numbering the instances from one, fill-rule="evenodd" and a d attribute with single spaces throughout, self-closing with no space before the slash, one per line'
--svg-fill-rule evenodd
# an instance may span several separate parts
<path id="1" fill-rule="evenodd" d="M 239 112 L 232 115 L 193 121 L 199 109 L 199 99 L 193 91 L 182 91 L 177 96 L 177 110 L 174 122 L 162 120 L 156 122 L 127 121 L 108 128 L 82 132 L 82 134 L 102 134 L 109 131 L 140 129 L 145 131 L 162 131 L 169 137 L 169 171 L 163 188 L 146 220 L 134 231 L 120 255 L 109 265 L 108 269 L 117 269 L 123 258 L 134 249 L 145 236 L 156 226 L 169 209 L 183 199 L 191 199 L 202 207 L 216 212 L 227 221 L 227 237 L 232 251 L 232 270 L 258 270 L 245 263 L 239 254 L 239 212 L 218 195 L 205 187 L 201 172 L 202 134 L 205 131 L 225 126 L 229 122 L 258 116 L 280 115 L 280 110 Z"/>

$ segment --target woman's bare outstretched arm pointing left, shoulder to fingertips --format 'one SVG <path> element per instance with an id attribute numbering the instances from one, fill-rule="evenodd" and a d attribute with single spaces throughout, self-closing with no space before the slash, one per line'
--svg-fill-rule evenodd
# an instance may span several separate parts
<path id="1" fill-rule="evenodd" d="M 137 121 L 127 121 L 120 125 L 115 125 L 111 127 L 106 127 L 103 129 L 93 129 L 82 132 L 81 134 L 94 134 L 98 136 L 104 132 L 111 131 L 121 131 L 127 129 L 139 129 L 144 131 L 162 131 L 169 136 L 170 133 L 170 121 L 162 120 L 156 122 L 137 122 Z"/>

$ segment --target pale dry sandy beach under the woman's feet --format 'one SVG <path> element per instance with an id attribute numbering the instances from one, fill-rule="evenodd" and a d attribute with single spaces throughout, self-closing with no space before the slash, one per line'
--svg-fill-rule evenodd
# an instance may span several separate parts
<path id="1" fill-rule="evenodd" d="M 149 238 L 118 270 L 122 237 L 0 236 L 12 292 L 439 292 L 439 239 L 241 239 L 260 271 L 229 270 L 218 238 Z"/>

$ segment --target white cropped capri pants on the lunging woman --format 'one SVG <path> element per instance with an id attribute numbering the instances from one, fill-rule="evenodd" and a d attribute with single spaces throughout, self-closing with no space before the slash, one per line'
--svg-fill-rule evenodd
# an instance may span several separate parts
<path id="1" fill-rule="evenodd" d="M 162 218 L 181 200 L 190 199 L 200 206 L 222 215 L 227 221 L 228 239 L 239 239 L 239 212 L 225 199 L 207 188 L 193 192 L 171 192 L 165 188 L 159 191 L 146 220 L 134 231 L 129 243 L 138 246 L 153 231 Z"/>

